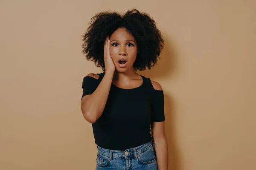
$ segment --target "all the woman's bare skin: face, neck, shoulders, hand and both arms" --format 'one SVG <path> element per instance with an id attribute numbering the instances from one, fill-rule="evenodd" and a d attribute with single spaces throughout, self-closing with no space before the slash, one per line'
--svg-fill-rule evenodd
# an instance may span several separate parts
<path id="1" fill-rule="evenodd" d="M 97 88 L 92 95 L 84 96 L 81 101 L 81 110 L 84 118 L 91 123 L 95 122 L 96 119 L 101 116 L 102 109 L 104 107 L 97 104 L 106 102 L 106 99 L 102 99 L 104 98 L 102 97 L 102 93 L 109 91 L 110 82 L 119 88 L 125 89 L 136 88 L 143 83 L 142 77 L 133 69 L 133 64 L 138 53 L 137 42 L 134 37 L 125 28 L 118 28 L 111 37 L 108 38 L 104 45 L 105 77 L 103 78 L 102 83 L 100 83 L 99 88 Z M 127 59 L 127 65 L 125 68 L 119 67 L 119 58 Z M 97 74 L 88 74 L 87 76 L 91 76 L 96 79 L 99 78 L 99 75 Z M 112 80 L 109 81 L 111 78 Z M 151 83 L 155 90 L 163 90 L 158 82 L 151 81 Z M 104 88 L 106 89 L 104 90 Z M 108 93 L 103 96 L 107 98 Z M 102 100 L 102 102 L 93 102 L 99 100 Z M 84 105 L 86 105 L 86 103 L 88 104 L 87 106 L 83 106 L 83 103 L 85 103 Z M 99 110 L 100 107 L 102 107 L 101 110 Z M 168 146 L 164 122 L 153 122 L 152 136 L 154 139 L 154 149 L 156 151 L 158 170 L 168 170 Z"/>

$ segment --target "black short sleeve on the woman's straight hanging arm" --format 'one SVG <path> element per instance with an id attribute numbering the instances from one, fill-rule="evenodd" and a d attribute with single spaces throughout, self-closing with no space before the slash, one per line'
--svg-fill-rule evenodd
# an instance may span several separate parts
<path id="1" fill-rule="evenodd" d="M 164 95 L 163 90 L 155 90 L 152 93 L 151 113 L 152 122 L 165 121 L 164 115 Z"/>

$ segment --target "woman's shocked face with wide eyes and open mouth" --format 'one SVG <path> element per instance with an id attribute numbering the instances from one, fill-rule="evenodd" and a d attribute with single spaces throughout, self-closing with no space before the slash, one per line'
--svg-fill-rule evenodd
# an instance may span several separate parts
<path id="1" fill-rule="evenodd" d="M 118 28 L 110 37 L 110 54 L 119 72 L 133 69 L 133 64 L 137 56 L 137 42 L 135 38 L 126 31 L 125 28 Z M 120 62 L 125 59 L 127 62 Z"/>

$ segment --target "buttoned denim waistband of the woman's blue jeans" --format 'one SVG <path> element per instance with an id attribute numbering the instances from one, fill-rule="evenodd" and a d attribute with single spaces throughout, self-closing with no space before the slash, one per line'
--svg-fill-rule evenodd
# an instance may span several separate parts
<path id="1" fill-rule="evenodd" d="M 110 160 L 112 160 L 112 158 L 125 159 L 125 158 L 130 158 L 130 157 L 134 157 L 135 159 L 137 159 L 137 154 L 143 153 L 146 150 L 150 149 L 151 147 L 153 147 L 153 149 L 154 149 L 154 140 L 153 139 L 151 139 L 150 142 L 147 142 L 140 146 L 133 147 L 133 148 L 126 149 L 126 150 L 109 150 L 109 149 L 105 149 L 105 148 L 97 146 L 98 153 L 108 156 Z"/>

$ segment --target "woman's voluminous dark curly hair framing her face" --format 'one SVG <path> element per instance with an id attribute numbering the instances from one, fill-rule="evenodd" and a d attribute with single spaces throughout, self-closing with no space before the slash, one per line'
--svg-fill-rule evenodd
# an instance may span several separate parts
<path id="1" fill-rule="evenodd" d="M 83 37 L 83 54 L 87 60 L 95 62 L 96 67 L 104 64 L 104 43 L 106 38 L 118 28 L 126 28 L 137 41 L 138 51 L 134 62 L 134 71 L 150 69 L 157 63 L 164 41 L 155 21 L 137 9 L 128 10 L 124 15 L 117 12 L 103 11 L 92 17 Z"/>

